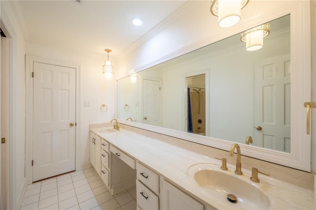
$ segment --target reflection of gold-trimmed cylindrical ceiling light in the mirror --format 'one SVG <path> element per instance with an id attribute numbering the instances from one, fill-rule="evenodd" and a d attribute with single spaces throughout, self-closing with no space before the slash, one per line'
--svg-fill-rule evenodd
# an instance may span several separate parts
<path id="1" fill-rule="evenodd" d="M 246 42 L 246 50 L 254 51 L 263 47 L 263 38 L 270 34 L 270 23 L 247 30 L 240 35 L 240 40 Z"/>

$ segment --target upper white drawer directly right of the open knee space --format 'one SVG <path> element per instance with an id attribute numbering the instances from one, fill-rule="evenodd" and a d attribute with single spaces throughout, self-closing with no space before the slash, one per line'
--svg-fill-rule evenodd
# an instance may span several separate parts
<path id="1" fill-rule="evenodd" d="M 154 193 L 159 194 L 159 176 L 138 162 L 136 163 L 136 169 L 137 179 L 145 184 Z"/>

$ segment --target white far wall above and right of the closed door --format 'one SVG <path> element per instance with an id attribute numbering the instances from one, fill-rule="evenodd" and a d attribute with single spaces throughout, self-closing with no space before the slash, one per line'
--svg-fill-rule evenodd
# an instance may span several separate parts
<path id="1" fill-rule="evenodd" d="M 115 79 L 105 80 L 102 74 L 105 57 L 84 51 L 72 53 L 33 43 L 26 43 L 26 54 L 79 66 L 79 119 L 76 119 L 76 129 L 79 129 L 79 135 L 76 138 L 79 151 L 76 153 L 79 153 L 79 160 L 76 162 L 79 162 L 80 168 L 77 167 L 76 170 L 89 166 L 89 124 L 110 122 L 115 112 Z M 85 101 L 89 102 L 90 106 L 84 106 Z M 102 104 L 108 106 L 106 112 L 100 110 Z"/>

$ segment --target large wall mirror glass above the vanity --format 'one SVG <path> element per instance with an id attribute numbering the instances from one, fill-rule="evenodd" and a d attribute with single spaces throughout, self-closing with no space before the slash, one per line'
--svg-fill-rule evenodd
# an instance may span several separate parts
<path id="1" fill-rule="evenodd" d="M 261 49 L 248 51 L 239 33 L 118 79 L 117 118 L 293 156 L 291 15 L 254 26 L 270 25 Z"/>

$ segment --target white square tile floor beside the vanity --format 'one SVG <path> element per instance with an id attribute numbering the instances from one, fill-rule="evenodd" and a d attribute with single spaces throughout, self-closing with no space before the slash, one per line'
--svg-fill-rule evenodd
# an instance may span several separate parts
<path id="1" fill-rule="evenodd" d="M 136 210 L 136 187 L 112 196 L 94 168 L 27 186 L 20 210 Z"/>

